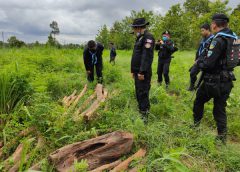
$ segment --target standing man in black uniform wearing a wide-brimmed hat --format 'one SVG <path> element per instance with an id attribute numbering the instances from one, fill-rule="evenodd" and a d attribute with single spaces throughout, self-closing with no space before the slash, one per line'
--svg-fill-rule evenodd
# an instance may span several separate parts
<path id="1" fill-rule="evenodd" d="M 152 34 L 146 30 L 147 25 L 149 22 L 146 22 L 144 18 L 135 19 L 131 25 L 137 37 L 132 54 L 131 73 L 135 80 L 139 111 L 145 123 L 147 123 L 150 109 L 149 91 L 155 44 Z"/>

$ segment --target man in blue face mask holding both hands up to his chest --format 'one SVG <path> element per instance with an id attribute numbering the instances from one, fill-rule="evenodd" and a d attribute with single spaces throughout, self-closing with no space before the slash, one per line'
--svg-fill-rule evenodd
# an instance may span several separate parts
<path id="1" fill-rule="evenodd" d="M 158 52 L 158 83 L 162 84 L 162 75 L 164 75 L 166 88 L 170 84 L 169 79 L 169 67 L 172 59 L 172 53 L 174 52 L 174 44 L 172 40 L 170 39 L 170 33 L 169 31 L 165 31 L 162 34 L 162 40 L 159 40 L 156 43 L 156 50 L 159 50 Z"/>

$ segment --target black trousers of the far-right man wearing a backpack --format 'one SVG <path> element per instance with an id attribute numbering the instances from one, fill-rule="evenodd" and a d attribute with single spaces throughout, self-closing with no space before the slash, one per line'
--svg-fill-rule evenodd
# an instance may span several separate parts
<path id="1" fill-rule="evenodd" d="M 216 121 L 219 135 L 227 133 L 227 99 L 232 90 L 233 83 L 206 83 L 204 82 L 197 91 L 196 99 L 193 106 L 194 123 L 200 123 L 203 118 L 204 104 L 213 98 L 213 116 Z"/>

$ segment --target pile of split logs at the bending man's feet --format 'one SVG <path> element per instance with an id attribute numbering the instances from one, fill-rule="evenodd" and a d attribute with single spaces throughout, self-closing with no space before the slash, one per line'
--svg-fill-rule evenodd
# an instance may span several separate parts
<path id="1" fill-rule="evenodd" d="M 89 96 L 79 107 L 81 98 L 87 91 L 87 85 L 83 90 L 77 94 L 77 90 L 74 90 L 70 96 L 65 96 L 62 100 L 63 105 L 67 109 L 74 111 L 74 120 L 78 121 L 83 117 L 85 120 L 90 120 L 94 112 L 100 107 L 101 103 L 107 98 L 107 90 L 103 88 L 102 84 L 97 84 L 95 92 Z"/>

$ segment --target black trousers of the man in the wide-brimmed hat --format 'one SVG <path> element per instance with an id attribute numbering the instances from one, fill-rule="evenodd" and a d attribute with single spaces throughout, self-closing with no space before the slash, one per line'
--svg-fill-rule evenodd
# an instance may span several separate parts
<path id="1" fill-rule="evenodd" d="M 134 74 L 135 91 L 138 102 L 138 108 L 140 111 L 148 111 L 150 109 L 149 91 L 151 88 L 152 72 L 144 75 L 144 80 L 138 79 L 137 74 Z"/>

